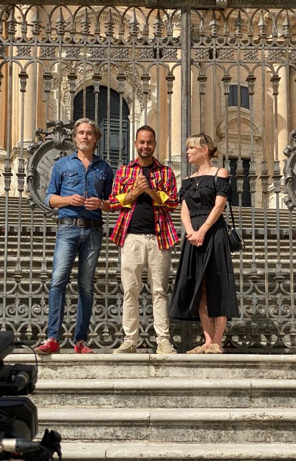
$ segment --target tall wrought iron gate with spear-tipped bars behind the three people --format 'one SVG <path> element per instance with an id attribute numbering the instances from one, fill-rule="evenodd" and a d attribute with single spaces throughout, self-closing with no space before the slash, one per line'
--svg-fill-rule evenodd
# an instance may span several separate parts
<path id="1" fill-rule="evenodd" d="M 70 149 L 70 125 L 65 122 L 72 120 L 75 95 L 83 91 L 85 113 L 87 87 L 94 86 L 97 117 L 104 85 L 108 108 L 112 89 L 120 100 L 118 129 L 110 124 L 107 110 L 107 159 L 118 146 L 118 165 L 122 163 L 123 102 L 130 110 L 130 152 L 136 129 L 153 125 L 157 156 L 174 168 L 178 182 L 188 174 L 185 144 L 190 133 L 209 132 L 220 150 L 218 164 L 224 162 L 229 171 L 231 159 L 237 159 L 236 217 L 247 249 L 234 257 L 241 317 L 229 322 L 225 343 L 241 352 L 294 351 L 296 218 L 284 204 L 282 151 L 296 128 L 295 10 L 237 5 L 225 10 L 37 4 L 0 8 L 2 329 L 34 342 L 46 335 L 54 221 L 42 197 L 52 149 L 44 147 L 36 164 L 32 155 L 46 143 L 57 151 L 65 145 Z M 37 136 L 36 127 L 41 127 Z M 247 178 L 245 160 L 250 164 Z M 290 164 L 293 176 L 295 162 Z M 251 206 L 244 208 L 246 181 Z M 105 249 L 90 328 L 93 345 L 105 352 L 122 337 L 120 253 L 107 238 L 113 220 L 105 217 Z M 175 223 L 180 229 L 177 213 Z M 177 246 L 171 282 L 178 254 Z M 65 348 L 75 324 L 75 278 L 74 269 L 63 324 Z M 181 332 L 180 324 L 172 324 L 177 345 L 198 342 L 200 335 L 198 325 L 183 324 Z M 143 350 L 154 347 L 145 275 L 140 345 Z"/>

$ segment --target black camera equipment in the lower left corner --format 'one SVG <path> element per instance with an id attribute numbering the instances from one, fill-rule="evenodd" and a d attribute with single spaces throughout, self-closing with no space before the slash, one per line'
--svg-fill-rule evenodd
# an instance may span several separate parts
<path id="1" fill-rule="evenodd" d="M 32 441 L 38 432 L 37 408 L 28 397 L 21 396 L 33 393 L 38 362 L 35 355 L 36 366 L 4 364 L 14 345 L 29 347 L 24 342 L 14 342 L 13 333 L 0 332 L 0 460 L 49 461 L 57 452 L 61 461 L 58 432 L 46 429 L 40 442 Z"/>

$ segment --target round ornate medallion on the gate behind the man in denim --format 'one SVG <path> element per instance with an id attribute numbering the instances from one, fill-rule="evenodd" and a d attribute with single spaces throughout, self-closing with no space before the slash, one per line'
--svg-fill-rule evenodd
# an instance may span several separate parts
<path id="1" fill-rule="evenodd" d="M 50 208 L 45 206 L 44 199 L 53 165 L 75 150 L 75 145 L 71 141 L 72 126 L 71 121 L 48 120 L 45 130 L 35 130 L 38 142 L 33 141 L 27 149 L 32 155 L 27 166 L 27 184 L 32 199 L 29 203 L 38 205 L 47 212 Z"/>

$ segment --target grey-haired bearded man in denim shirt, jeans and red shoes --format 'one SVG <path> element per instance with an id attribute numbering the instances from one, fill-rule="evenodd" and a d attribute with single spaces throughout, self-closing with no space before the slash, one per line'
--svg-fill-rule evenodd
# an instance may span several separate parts
<path id="1" fill-rule="evenodd" d="M 93 283 L 102 244 L 102 210 L 109 211 L 107 200 L 112 189 L 111 167 L 94 149 L 101 132 L 93 120 L 79 119 L 73 126 L 72 139 L 77 151 L 58 160 L 47 189 L 45 204 L 59 208 L 57 239 L 53 255 L 49 289 L 48 339 L 35 352 L 60 352 L 65 291 L 71 268 L 78 254 L 77 322 L 75 352 L 89 354 L 87 331 L 93 308 Z"/>

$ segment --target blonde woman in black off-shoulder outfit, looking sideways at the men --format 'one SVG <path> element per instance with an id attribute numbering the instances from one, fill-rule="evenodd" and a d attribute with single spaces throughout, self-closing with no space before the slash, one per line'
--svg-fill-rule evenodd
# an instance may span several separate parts
<path id="1" fill-rule="evenodd" d="M 179 191 L 186 231 L 169 316 L 200 320 L 205 343 L 190 354 L 221 353 L 228 317 L 238 315 L 233 265 L 223 211 L 231 200 L 228 171 L 212 166 L 217 148 L 206 133 L 187 140 L 188 161 L 196 174 Z"/>

